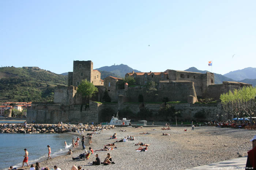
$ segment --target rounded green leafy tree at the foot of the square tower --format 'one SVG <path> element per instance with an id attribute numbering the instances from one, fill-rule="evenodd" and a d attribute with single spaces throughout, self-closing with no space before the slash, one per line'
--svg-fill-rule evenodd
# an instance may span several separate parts
<path id="1" fill-rule="evenodd" d="M 98 92 L 98 88 L 93 83 L 88 82 L 87 79 L 84 79 L 78 86 L 77 92 L 84 98 L 91 98 L 93 94 Z"/>

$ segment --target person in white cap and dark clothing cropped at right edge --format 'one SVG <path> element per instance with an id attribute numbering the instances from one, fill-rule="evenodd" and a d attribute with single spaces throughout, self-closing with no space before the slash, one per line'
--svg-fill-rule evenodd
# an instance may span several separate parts
<path id="1" fill-rule="evenodd" d="M 252 138 L 252 149 L 248 152 L 245 169 L 256 169 L 256 135 Z"/>

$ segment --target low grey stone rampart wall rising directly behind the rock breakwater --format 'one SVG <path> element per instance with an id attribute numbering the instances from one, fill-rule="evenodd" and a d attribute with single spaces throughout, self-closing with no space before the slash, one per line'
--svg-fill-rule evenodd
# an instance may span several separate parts
<path id="1" fill-rule="evenodd" d="M 32 104 L 27 108 L 27 122 L 32 123 L 99 123 L 98 106 L 90 101 L 89 108 L 85 105 Z"/>

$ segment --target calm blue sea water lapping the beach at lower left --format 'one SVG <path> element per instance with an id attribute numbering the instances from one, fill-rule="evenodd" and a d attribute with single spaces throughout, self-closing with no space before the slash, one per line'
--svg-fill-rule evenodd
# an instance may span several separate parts
<path id="1" fill-rule="evenodd" d="M 35 162 L 41 162 L 48 157 L 48 147 L 51 147 L 50 156 L 56 157 L 67 154 L 72 149 L 72 139 L 78 136 L 75 134 L 0 134 L 1 139 L 1 157 L 0 169 L 8 167 L 21 167 L 26 148 L 29 152 L 29 165 Z M 64 141 L 67 147 L 64 147 Z M 80 146 L 80 145 L 79 145 Z M 82 146 L 81 146 L 82 147 Z M 26 163 L 24 164 L 24 166 Z M 27 165 L 26 165 L 27 166 Z"/>

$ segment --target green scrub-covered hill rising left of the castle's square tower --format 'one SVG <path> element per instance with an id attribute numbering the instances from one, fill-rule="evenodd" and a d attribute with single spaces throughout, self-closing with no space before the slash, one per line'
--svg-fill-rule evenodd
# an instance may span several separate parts
<path id="1" fill-rule="evenodd" d="M 0 67 L 0 102 L 52 102 L 54 86 L 67 76 L 40 68 Z"/>

